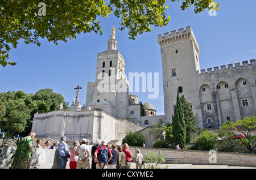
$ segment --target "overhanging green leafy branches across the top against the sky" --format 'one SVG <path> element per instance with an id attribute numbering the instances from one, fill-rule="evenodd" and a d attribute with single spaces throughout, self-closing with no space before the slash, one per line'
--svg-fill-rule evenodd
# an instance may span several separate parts
<path id="1" fill-rule="evenodd" d="M 179 0 L 171 0 L 175 2 Z M 38 1 L 6 0 L 0 2 L 0 65 L 16 65 L 8 61 L 11 46 L 16 48 L 20 39 L 26 44 L 40 46 L 39 39 L 47 38 L 49 42 L 67 42 L 80 33 L 100 33 L 102 28 L 99 18 L 114 14 L 121 27 L 128 29 L 129 38 L 150 32 L 151 27 L 162 27 L 170 22 L 166 14 L 166 0 L 80 0 L 80 1 Z M 185 10 L 193 5 L 195 13 L 204 9 L 219 7 L 214 0 L 185 0 L 180 8 Z"/>

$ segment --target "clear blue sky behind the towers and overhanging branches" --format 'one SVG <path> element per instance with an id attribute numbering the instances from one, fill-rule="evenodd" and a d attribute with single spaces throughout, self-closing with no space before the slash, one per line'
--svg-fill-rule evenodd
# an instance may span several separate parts
<path id="1" fill-rule="evenodd" d="M 10 59 L 16 66 L 0 67 L 0 92 L 24 91 L 36 93 L 50 88 L 72 103 L 76 97 L 74 88 L 79 84 L 81 104 L 86 103 L 88 82 L 95 82 L 96 55 L 108 49 L 107 41 L 114 25 L 117 49 L 126 61 L 126 75 L 129 72 L 159 72 L 159 96 L 148 99 L 149 92 L 135 93 L 139 101 L 150 102 L 156 114 L 164 114 L 162 83 L 162 60 L 158 35 L 192 27 L 200 48 L 200 68 L 228 65 L 256 58 L 256 1 L 223 0 L 216 16 L 208 10 L 195 14 L 193 7 L 182 11 L 181 2 L 168 2 L 167 14 L 171 21 L 166 27 L 152 27 L 152 32 L 138 35 L 130 40 L 127 31 L 118 29 L 119 21 L 113 15 L 101 18 L 103 35 L 81 34 L 76 39 L 60 42 L 57 46 L 42 39 L 41 46 L 26 45 L 20 41 L 11 49 Z M 129 77 L 128 77 L 129 78 Z"/>

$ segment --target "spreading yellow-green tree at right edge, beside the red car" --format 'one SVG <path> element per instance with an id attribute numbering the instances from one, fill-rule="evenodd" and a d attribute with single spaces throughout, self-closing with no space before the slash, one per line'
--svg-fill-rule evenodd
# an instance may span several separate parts
<path id="1" fill-rule="evenodd" d="M 255 153 L 256 147 L 256 117 L 251 118 L 245 117 L 242 120 L 238 119 L 236 122 L 226 122 L 224 123 L 218 134 L 220 137 L 225 136 L 225 140 L 236 140 L 244 145 L 250 153 Z M 233 139 L 236 134 L 242 134 L 245 138 Z M 231 139 L 229 139 L 231 138 Z"/>

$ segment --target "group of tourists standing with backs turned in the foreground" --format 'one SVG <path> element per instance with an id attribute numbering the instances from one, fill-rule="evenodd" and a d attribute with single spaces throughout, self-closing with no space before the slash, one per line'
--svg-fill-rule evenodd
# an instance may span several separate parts
<path id="1" fill-rule="evenodd" d="M 105 140 L 96 140 L 94 145 L 90 145 L 88 139 L 82 139 L 79 143 L 73 142 L 73 146 L 68 149 L 67 138 L 61 137 L 58 147 L 59 168 L 65 169 L 68 159 L 70 169 L 130 169 L 131 152 L 128 144 L 117 146 L 108 144 Z M 143 155 L 137 150 L 136 168 L 142 168 Z"/>

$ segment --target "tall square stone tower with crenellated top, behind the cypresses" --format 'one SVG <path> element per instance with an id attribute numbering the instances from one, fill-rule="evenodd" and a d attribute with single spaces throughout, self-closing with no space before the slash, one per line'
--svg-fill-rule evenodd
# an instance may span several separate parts
<path id="1" fill-rule="evenodd" d="M 190 26 L 158 35 L 163 67 L 164 113 L 172 122 L 176 95 L 185 96 L 191 103 L 197 126 L 202 125 L 197 71 L 200 72 L 199 45 Z"/>

